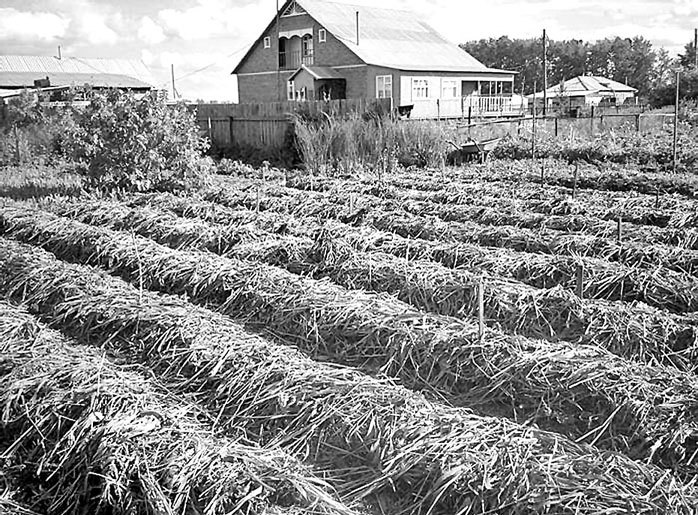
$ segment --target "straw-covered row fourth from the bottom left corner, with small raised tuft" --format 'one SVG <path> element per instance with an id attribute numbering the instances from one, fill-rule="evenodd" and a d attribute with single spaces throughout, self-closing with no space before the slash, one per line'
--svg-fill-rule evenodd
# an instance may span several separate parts
<path id="1" fill-rule="evenodd" d="M 80 221 L 133 231 L 173 248 L 205 250 L 214 242 L 227 249 L 229 257 L 283 266 L 314 278 L 328 277 L 348 289 L 391 293 L 419 309 L 447 316 L 476 314 L 477 287 L 484 279 L 485 316 L 490 325 L 533 338 L 600 345 L 614 354 L 683 370 L 692 371 L 698 365 L 698 327 L 692 320 L 642 304 L 582 300 L 562 288 L 540 290 L 466 269 L 358 251 L 353 246 L 360 244 L 348 239 L 339 225 L 319 229 L 314 239 L 267 233 L 261 241 L 229 245 L 225 235 L 240 241 L 232 225 L 192 220 L 180 224 L 180 218 L 168 213 L 103 201 L 53 207 Z M 168 237 L 169 228 L 180 225 L 193 231 L 191 239 L 184 232 Z M 202 239 L 204 234 L 211 238 Z"/>

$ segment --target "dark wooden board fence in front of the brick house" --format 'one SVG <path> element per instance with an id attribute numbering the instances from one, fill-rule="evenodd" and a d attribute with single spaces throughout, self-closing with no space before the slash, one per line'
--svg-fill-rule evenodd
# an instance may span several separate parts
<path id="1" fill-rule="evenodd" d="M 196 120 L 216 149 L 284 146 L 291 116 L 296 112 L 343 116 L 368 110 L 390 111 L 390 99 L 331 100 L 329 102 L 271 102 L 265 104 L 199 104 Z"/>

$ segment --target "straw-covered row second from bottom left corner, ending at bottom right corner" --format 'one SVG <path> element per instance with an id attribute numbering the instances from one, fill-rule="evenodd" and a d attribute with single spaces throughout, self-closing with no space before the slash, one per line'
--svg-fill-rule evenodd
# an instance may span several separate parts
<path id="1" fill-rule="evenodd" d="M 82 339 L 145 360 L 159 377 L 180 377 L 220 427 L 245 425 L 261 441 L 306 456 L 347 500 L 370 498 L 383 513 L 444 515 L 591 515 L 628 507 L 690 514 L 698 503 L 694 485 L 651 465 L 430 403 L 310 361 L 176 297 L 1 243 L 5 292 Z"/>

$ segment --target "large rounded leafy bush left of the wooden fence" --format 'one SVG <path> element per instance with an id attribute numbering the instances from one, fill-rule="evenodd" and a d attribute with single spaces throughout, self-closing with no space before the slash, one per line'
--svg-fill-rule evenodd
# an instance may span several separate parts
<path id="1" fill-rule="evenodd" d="M 113 90 L 95 94 L 74 116 L 62 144 L 95 187 L 181 190 L 206 180 L 210 163 L 202 152 L 207 143 L 183 105 Z"/>

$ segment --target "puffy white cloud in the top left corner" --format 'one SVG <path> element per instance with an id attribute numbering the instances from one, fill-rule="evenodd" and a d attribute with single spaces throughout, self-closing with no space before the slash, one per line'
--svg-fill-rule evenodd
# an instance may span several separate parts
<path id="1" fill-rule="evenodd" d="M 70 20 L 48 12 L 0 8 L 0 39 L 51 42 L 66 34 Z"/>

